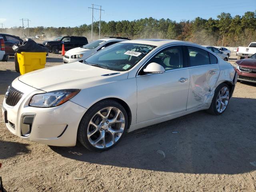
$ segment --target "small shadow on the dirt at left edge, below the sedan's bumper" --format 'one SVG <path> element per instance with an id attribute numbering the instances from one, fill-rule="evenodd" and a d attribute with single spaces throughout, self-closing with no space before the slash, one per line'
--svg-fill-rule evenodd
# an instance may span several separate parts
<path id="1" fill-rule="evenodd" d="M 0 159 L 7 159 L 20 154 L 29 153 L 28 144 L 0 140 Z"/>

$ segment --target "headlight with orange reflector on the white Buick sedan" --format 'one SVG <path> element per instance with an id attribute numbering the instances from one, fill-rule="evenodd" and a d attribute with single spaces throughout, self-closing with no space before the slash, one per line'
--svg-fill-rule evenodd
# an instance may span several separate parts
<path id="1" fill-rule="evenodd" d="M 36 94 L 31 98 L 29 106 L 43 108 L 59 106 L 70 100 L 79 92 L 80 89 L 67 89 Z"/>

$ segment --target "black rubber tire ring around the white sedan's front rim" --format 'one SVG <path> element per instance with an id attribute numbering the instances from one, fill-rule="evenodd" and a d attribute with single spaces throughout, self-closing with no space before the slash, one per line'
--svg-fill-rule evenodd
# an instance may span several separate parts
<path id="1" fill-rule="evenodd" d="M 90 142 L 87 138 L 88 124 L 89 124 L 92 116 L 94 116 L 94 114 L 96 114 L 96 112 L 98 112 L 102 108 L 110 107 L 110 106 L 120 109 L 122 111 L 122 113 L 124 114 L 124 118 L 125 118 L 124 132 L 121 135 L 121 137 L 119 138 L 119 140 L 116 143 L 114 143 L 112 146 L 110 146 L 108 148 L 104 148 L 104 149 L 96 148 L 96 147 L 92 146 L 92 144 L 90 144 Z M 78 140 L 88 150 L 102 152 L 102 151 L 108 150 L 108 149 L 114 147 L 116 144 L 118 144 L 120 142 L 120 140 L 122 139 L 122 137 L 124 136 L 124 134 L 126 133 L 127 128 L 128 128 L 128 115 L 127 115 L 127 112 L 124 109 L 124 107 L 114 100 L 103 100 L 101 102 L 94 104 L 90 109 L 88 109 L 88 111 L 82 117 L 82 120 L 78 126 Z"/>

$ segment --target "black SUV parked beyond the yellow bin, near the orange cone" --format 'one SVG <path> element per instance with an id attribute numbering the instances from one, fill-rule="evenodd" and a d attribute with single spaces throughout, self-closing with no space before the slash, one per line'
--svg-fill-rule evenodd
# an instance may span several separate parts
<path id="1" fill-rule="evenodd" d="M 58 54 L 62 50 L 62 44 L 64 44 L 65 50 L 70 50 L 88 44 L 88 40 L 82 36 L 60 36 L 52 41 L 44 41 L 42 44 L 53 53 Z"/>

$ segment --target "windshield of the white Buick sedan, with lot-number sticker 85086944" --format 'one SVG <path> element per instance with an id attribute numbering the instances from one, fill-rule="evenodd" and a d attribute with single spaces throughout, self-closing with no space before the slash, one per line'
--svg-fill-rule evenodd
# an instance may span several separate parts
<path id="1" fill-rule="evenodd" d="M 117 43 L 81 61 L 115 71 L 130 70 L 156 46 L 135 43 Z"/>

